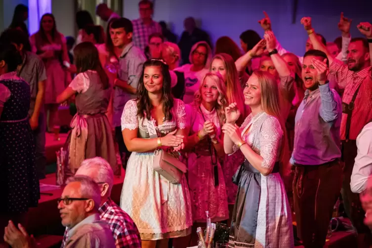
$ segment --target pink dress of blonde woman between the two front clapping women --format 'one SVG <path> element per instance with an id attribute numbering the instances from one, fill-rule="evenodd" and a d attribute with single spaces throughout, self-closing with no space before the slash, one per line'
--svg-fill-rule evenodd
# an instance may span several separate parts
<path id="1" fill-rule="evenodd" d="M 203 105 L 200 106 L 200 109 L 193 105 L 187 105 L 186 112 L 190 118 L 190 135 L 203 128 L 204 118 L 217 126 L 217 136 L 220 135 L 221 127 L 216 110 L 209 112 Z M 206 211 L 209 211 L 212 222 L 229 218 L 222 168 L 214 148 L 212 155 L 210 150 L 208 140 L 204 139 L 195 146 L 191 153 L 188 153 L 188 182 L 194 222 L 206 222 Z M 214 163 L 215 165 L 213 165 Z M 215 185 L 213 166 L 217 166 L 218 185 Z"/>

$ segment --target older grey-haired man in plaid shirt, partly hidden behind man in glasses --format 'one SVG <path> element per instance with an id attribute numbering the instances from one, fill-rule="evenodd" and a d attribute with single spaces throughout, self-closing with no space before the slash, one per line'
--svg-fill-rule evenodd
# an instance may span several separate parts
<path id="1" fill-rule="evenodd" d="M 100 206 L 98 211 L 101 220 L 108 223 L 117 248 L 141 248 L 141 238 L 138 229 L 129 215 L 111 199 L 114 185 L 114 173 L 109 163 L 100 157 L 86 159 L 79 167 L 75 176 L 88 176 L 100 187 Z M 67 229 L 63 237 L 62 248 L 68 240 L 70 231 Z"/>

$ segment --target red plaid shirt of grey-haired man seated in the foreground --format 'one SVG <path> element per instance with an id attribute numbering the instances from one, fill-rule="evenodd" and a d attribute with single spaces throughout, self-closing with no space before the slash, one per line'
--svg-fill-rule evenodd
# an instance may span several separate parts
<path id="1" fill-rule="evenodd" d="M 110 198 L 99 208 L 101 220 L 109 225 L 117 248 L 141 248 L 141 238 L 137 226 L 130 216 Z M 63 237 L 64 248 L 68 240 L 67 229 Z"/>

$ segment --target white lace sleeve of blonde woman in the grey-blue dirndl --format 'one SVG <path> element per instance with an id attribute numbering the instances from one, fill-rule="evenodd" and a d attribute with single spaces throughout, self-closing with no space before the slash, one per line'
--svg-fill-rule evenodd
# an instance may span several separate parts
<path id="1" fill-rule="evenodd" d="M 269 117 L 263 122 L 260 132 L 260 156 L 263 158 L 261 165 L 263 168 L 274 167 L 282 137 L 282 127 L 275 117 Z"/>

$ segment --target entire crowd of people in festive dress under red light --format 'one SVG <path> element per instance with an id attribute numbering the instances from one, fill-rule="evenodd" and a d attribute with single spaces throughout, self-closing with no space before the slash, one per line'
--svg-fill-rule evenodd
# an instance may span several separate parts
<path id="1" fill-rule="evenodd" d="M 45 131 L 59 128 L 59 105 L 73 102 L 62 247 L 187 248 L 209 217 L 231 225 L 231 248 L 319 248 L 340 195 L 355 246 L 372 246 L 372 25 L 355 27 L 341 13 L 341 36 L 326 42 L 303 17 L 309 38 L 297 56 L 264 12 L 263 38 L 243 32 L 242 53 L 226 36 L 212 49 L 191 17 L 177 44 L 152 20 L 151 1 L 138 6 L 130 21 L 99 4 L 106 34 L 79 11 L 76 41 L 50 13 L 29 37 L 27 8 L 17 7 L 23 21 L 1 33 L 4 241 L 35 245 L 22 224 L 40 198 Z M 362 37 L 351 38 L 351 28 Z M 159 154 L 173 158 L 179 180 L 156 169 Z M 118 206 L 110 194 L 121 166 Z"/>

